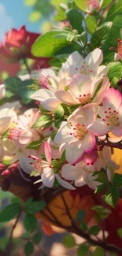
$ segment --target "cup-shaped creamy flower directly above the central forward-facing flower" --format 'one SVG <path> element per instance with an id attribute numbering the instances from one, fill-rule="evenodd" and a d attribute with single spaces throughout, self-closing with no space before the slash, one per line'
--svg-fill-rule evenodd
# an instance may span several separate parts
<path id="1" fill-rule="evenodd" d="M 99 84 L 102 83 L 99 87 Z M 103 79 L 92 80 L 90 76 L 76 75 L 73 76 L 72 81 L 68 85 L 68 91 L 57 90 L 55 95 L 57 98 L 67 104 L 80 106 L 88 103 L 102 103 L 102 97 L 107 89 L 109 89 L 110 83 L 107 76 Z M 99 90 L 98 90 L 99 87 Z M 98 90 L 96 92 L 96 90 Z"/>

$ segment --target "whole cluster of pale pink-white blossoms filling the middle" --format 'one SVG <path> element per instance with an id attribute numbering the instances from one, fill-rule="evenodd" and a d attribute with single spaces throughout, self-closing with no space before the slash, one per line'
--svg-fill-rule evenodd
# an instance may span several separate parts
<path id="1" fill-rule="evenodd" d="M 93 173 L 101 169 L 111 179 L 118 166 L 111 160 L 111 148 L 98 147 L 97 141 L 109 132 L 117 139 L 122 135 L 122 95 L 111 87 L 102 60 L 98 48 L 84 59 L 73 52 L 59 72 L 52 68 L 31 73 L 39 88 L 30 97 L 37 108 L 18 116 L 6 106 L 0 110 L 3 163 L 19 160 L 22 175 L 35 176 L 40 187 L 61 184 L 74 190 L 87 184 L 95 189 Z M 1 98 L 4 94 L 2 85 Z"/>

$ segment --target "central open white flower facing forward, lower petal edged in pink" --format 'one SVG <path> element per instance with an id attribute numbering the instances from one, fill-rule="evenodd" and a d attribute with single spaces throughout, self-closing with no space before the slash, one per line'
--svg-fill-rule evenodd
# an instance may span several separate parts
<path id="1" fill-rule="evenodd" d="M 68 121 L 62 122 L 61 128 L 54 137 L 54 143 L 65 143 L 66 159 L 70 164 L 79 162 L 84 152 L 91 152 L 96 143 L 89 125 L 94 124 L 96 109 L 91 105 L 79 107 L 68 117 Z"/>

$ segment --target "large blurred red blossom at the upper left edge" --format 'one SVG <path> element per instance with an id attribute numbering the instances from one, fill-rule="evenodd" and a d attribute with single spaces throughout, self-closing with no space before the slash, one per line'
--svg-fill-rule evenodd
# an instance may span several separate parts
<path id="1" fill-rule="evenodd" d="M 9 33 L 5 34 L 5 42 L 0 43 L 0 54 L 11 62 L 17 62 L 24 58 L 48 62 L 49 58 L 35 58 L 31 54 L 31 46 L 39 35 L 38 33 L 26 31 L 25 26 L 18 30 L 13 28 Z"/>

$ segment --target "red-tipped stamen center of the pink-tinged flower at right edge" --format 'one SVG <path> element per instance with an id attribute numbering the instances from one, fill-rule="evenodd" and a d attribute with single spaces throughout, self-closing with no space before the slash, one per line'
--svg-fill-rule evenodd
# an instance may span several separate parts
<path id="1" fill-rule="evenodd" d="M 111 108 L 109 108 L 108 110 L 105 110 L 104 113 L 106 115 L 105 115 L 105 118 L 102 119 L 102 121 L 107 123 L 107 125 L 112 125 L 112 126 L 119 125 L 119 115 L 116 110 L 112 110 Z"/>

